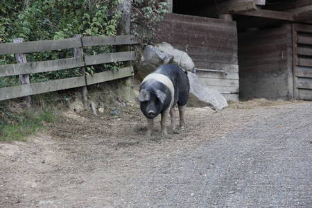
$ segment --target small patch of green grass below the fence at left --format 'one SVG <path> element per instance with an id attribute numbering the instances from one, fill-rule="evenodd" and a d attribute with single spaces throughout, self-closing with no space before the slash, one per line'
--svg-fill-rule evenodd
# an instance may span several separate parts
<path id="1" fill-rule="evenodd" d="M 51 111 L 9 110 L 0 114 L 0 142 L 27 141 L 29 135 L 44 128 L 44 123 L 55 123 L 57 119 Z"/>

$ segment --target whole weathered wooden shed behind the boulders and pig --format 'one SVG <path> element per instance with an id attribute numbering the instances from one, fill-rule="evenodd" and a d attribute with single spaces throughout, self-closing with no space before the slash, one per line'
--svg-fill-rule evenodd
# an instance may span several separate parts
<path id="1" fill-rule="evenodd" d="M 166 0 L 157 40 L 189 53 L 227 100 L 312 100 L 312 1 Z"/>

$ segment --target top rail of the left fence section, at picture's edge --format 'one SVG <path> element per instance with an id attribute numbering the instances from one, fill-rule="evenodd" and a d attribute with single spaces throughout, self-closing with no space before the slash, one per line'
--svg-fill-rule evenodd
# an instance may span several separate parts
<path id="1" fill-rule="evenodd" d="M 40 40 L 21 43 L 8 43 L 0 44 L 0 55 L 11 53 L 31 53 L 40 51 L 71 49 L 80 46 L 80 38 L 75 37 L 59 40 Z"/>

